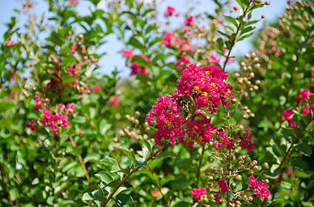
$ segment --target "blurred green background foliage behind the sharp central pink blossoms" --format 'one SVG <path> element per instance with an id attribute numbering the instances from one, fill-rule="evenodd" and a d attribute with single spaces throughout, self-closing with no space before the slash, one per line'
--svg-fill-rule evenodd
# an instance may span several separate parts
<path id="1" fill-rule="evenodd" d="M 313 206 L 313 112 L 302 113 L 306 101 L 296 107 L 299 91 L 313 92 L 313 2 L 288 1 L 277 22 L 254 30 L 251 13 L 267 9 L 264 2 L 213 0 L 215 12 L 173 26 L 169 19 L 175 17 L 166 23 L 157 18 L 158 1 L 105 1 L 106 10 L 97 8 L 100 0 L 88 1 L 94 7 L 81 16 L 75 10 L 79 1 L 48 0 L 49 15 L 41 17 L 27 0 L 6 24 L 0 48 L 1 206 L 102 206 L 135 166 L 141 168 L 107 206 L 216 205 L 211 193 L 204 201 L 191 197 L 193 188 L 209 185 L 204 171 L 219 168 L 206 150 L 175 144 L 147 161 L 160 147 L 146 114 L 157 97 L 174 92 L 188 63 L 224 69 L 232 64 L 228 82 L 238 99 L 232 136 L 250 128 L 256 146 L 251 157 L 270 166 L 262 175 L 270 180 L 270 199 L 254 198 L 252 205 Z M 17 26 L 21 16 L 28 21 Z M 171 37 L 166 46 L 166 32 L 179 40 Z M 98 64 L 104 55 L 98 48 L 112 34 L 133 52 L 125 58 L 130 78 L 119 77 L 118 70 L 99 72 L 106 66 Z M 229 51 L 248 34 L 254 35 L 252 52 L 232 57 Z M 182 56 L 189 61 L 182 63 Z M 35 95 L 55 113 L 60 103 L 74 104 L 69 126 L 58 128 L 58 135 L 40 122 Z M 281 119 L 290 108 L 295 128 Z M 213 117 L 213 124 L 222 118 Z M 35 130 L 26 127 L 33 119 Z"/>

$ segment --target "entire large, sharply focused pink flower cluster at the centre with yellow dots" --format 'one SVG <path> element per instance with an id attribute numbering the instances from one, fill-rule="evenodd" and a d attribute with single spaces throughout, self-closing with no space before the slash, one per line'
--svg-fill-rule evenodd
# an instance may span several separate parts
<path id="1" fill-rule="evenodd" d="M 225 83 L 226 79 L 225 70 L 216 66 L 187 66 L 181 79 L 177 80 L 177 90 L 173 92 L 173 97 L 159 97 L 146 117 L 148 124 L 153 120 L 157 123 L 156 144 L 162 144 L 162 138 L 170 139 L 171 144 L 175 144 L 177 139 L 184 145 L 189 141 L 188 147 L 192 149 L 194 141 L 197 144 L 209 143 L 216 137 L 216 149 L 221 146 L 233 148 L 234 139 L 227 137 L 223 129 L 215 128 L 210 124 L 211 119 L 203 115 L 206 111 L 217 112 L 220 104 L 231 104 L 229 99 L 233 98 L 234 94 L 231 92 L 232 86 Z M 182 112 L 184 97 L 189 97 L 195 108 L 195 112 L 190 112 L 187 117 L 184 117 Z M 251 139 L 250 136 L 247 139 Z"/>

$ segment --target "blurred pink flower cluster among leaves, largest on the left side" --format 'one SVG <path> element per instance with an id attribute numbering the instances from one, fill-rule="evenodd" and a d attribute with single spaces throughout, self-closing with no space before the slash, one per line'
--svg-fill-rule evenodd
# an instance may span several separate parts
<path id="1" fill-rule="evenodd" d="M 42 126 L 48 126 L 49 128 L 51 128 L 53 135 L 58 135 L 58 128 L 67 128 L 69 126 L 70 122 L 67 116 L 72 115 L 74 112 L 76 112 L 76 108 L 73 104 L 68 103 L 67 106 L 64 106 L 63 103 L 60 103 L 58 105 L 58 112 L 51 112 L 51 110 L 46 109 L 47 104 L 42 103 L 43 101 L 47 102 L 46 99 L 40 99 L 38 95 L 35 95 L 35 99 L 36 105 L 34 110 L 39 110 L 39 108 L 41 107 L 43 109 L 42 115 L 38 119 L 33 119 L 29 121 L 26 124 L 26 127 L 30 128 L 31 130 L 35 130 L 36 127 L 33 123 L 37 122 Z"/>

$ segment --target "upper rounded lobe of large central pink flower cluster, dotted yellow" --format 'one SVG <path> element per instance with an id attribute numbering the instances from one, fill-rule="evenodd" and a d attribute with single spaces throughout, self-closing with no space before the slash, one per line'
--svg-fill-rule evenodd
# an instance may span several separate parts
<path id="1" fill-rule="evenodd" d="M 218 106 L 229 106 L 232 86 L 225 83 L 228 75 L 225 70 L 217 66 L 203 66 L 191 64 L 182 72 L 181 80 L 177 80 L 177 90 L 173 97 L 179 99 L 185 95 L 192 97 L 196 108 L 205 108 L 210 112 L 217 112 Z"/>

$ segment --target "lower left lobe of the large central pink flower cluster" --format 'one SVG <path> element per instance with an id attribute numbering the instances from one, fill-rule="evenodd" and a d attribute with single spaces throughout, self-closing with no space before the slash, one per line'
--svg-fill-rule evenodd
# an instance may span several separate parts
<path id="1" fill-rule="evenodd" d="M 184 118 L 179 115 L 181 109 L 177 107 L 177 103 L 170 95 L 163 95 L 157 99 L 152 106 L 152 110 L 147 114 L 146 121 L 152 124 L 155 118 L 157 131 L 154 133 L 155 143 L 162 144 L 162 138 L 170 139 L 171 144 L 176 143 L 176 137 L 186 144 L 184 140 L 185 131 L 181 128 Z"/>

